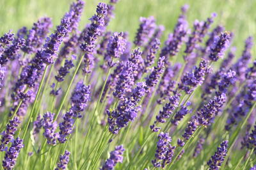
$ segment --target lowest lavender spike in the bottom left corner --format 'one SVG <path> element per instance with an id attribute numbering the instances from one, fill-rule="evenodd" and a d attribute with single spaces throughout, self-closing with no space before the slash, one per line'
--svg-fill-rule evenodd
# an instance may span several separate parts
<path id="1" fill-rule="evenodd" d="M 17 137 L 13 143 L 12 146 L 9 148 L 8 151 L 6 151 L 4 155 L 3 160 L 3 168 L 4 169 L 13 169 L 16 164 L 16 160 L 19 156 L 21 148 L 23 148 L 23 140 Z"/>

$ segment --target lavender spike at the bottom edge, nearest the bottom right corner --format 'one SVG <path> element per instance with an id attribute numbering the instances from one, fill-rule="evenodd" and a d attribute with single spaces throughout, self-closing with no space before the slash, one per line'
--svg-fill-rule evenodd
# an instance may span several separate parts
<path id="1" fill-rule="evenodd" d="M 207 162 L 209 169 L 220 169 L 222 162 L 225 160 L 227 155 L 228 141 L 223 141 L 220 144 L 220 147 L 217 148 L 217 151 Z"/>

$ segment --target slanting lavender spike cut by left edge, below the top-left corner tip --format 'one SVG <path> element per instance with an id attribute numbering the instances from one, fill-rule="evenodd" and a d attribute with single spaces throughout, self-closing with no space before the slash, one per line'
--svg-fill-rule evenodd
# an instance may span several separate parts
<path id="1" fill-rule="evenodd" d="M 12 45 L 3 50 L 0 56 L 0 64 L 3 66 L 7 63 L 8 59 L 13 60 L 17 57 L 19 50 L 25 45 L 25 40 L 17 38 L 12 41 Z"/>

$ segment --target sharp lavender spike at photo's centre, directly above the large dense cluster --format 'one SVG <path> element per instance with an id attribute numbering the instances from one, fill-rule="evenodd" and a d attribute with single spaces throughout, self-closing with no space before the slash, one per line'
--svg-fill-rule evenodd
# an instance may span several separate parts
<path id="1" fill-rule="evenodd" d="M 132 63 L 131 61 L 127 61 L 126 65 L 122 69 L 122 72 L 120 72 L 119 79 L 116 82 L 116 88 L 113 92 L 113 96 L 115 98 L 118 98 L 119 100 L 124 100 L 125 94 L 127 91 L 131 88 L 131 82 L 133 81 L 133 71 L 134 68 L 136 68 L 136 65 Z"/>

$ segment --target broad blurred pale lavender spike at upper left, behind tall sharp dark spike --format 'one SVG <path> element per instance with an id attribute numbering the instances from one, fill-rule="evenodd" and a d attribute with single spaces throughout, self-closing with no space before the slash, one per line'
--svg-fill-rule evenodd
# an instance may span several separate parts
<path id="1" fill-rule="evenodd" d="M 44 17 L 35 22 L 33 27 L 29 30 L 25 46 L 22 47 L 21 50 L 28 54 L 32 54 L 33 52 L 39 50 L 44 43 L 44 39 L 49 33 L 51 26 L 52 22 L 48 17 Z"/>

